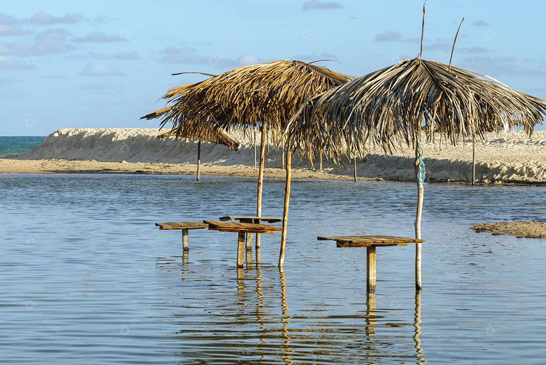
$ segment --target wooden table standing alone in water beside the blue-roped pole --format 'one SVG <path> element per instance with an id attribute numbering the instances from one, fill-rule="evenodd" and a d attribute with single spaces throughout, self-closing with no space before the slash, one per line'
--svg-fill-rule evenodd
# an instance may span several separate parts
<path id="1" fill-rule="evenodd" d="M 317 237 L 319 241 L 336 241 L 337 247 L 366 247 L 366 290 L 376 290 L 376 247 L 407 246 L 408 243 L 423 243 L 417 238 L 396 236 L 327 236 Z"/>

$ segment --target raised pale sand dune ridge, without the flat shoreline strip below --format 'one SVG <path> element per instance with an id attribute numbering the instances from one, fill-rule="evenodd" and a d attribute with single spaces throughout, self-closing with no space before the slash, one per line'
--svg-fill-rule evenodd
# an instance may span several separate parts
<path id="1" fill-rule="evenodd" d="M 180 143 L 174 139 L 159 140 L 157 129 L 137 128 L 68 128 L 49 135 L 33 151 L 19 157 L 22 160 L 96 160 L 127 161 L 152 164 L 195 164 L 197 142 Z M 252 166 L 254 153 L 252 142 L 241 133 L 232 134 L 241 142 L 239 151 L 203 142 L 201 161 L 213 170 L 222 166 L 222 171 L 233 166 Z M 427 177 L 430 181 L 469 181 L 471 178 L 472 146 L 468 141 L 462 146 L 423 146 Z M 389 180 L 413 181 L 413 150 L 402 148 L 394 155 L 384 155 L 371 148 L 365 161 L 358 160 L 358 176 Z M 281 152 L 269 146 L 266 167 L 280 167 Z M 295 157 L 296 169 L 311 169 L 306 161 Z M 318 167 L 318 164 L 314 165 Z M 352 164 L 332 167 L 324 160 L 328 175 L 352 175 Z M 157 166 L 156 166 L 157 167 Z M 5 170 L 5 169 L 4 169 Z M 157 169 L 156 169 L 157 170 Z M 5 172 L 5 171 L 4 171 Z M 157 172 L 157 171 L 155 171 Z M 171 172 L 169 172 L 171 173 Z M 476 176 L 484 182 L 546 182 L 546 131 L 537 131 L 529 139 L 521 131 L 490 135 L 477 143 Z M 309 176 L 314 177 L 314 176 Z M 318 175 L 317 178 L 321 178 Z M 324 176 L 323 176 L 324 178 Z"/>

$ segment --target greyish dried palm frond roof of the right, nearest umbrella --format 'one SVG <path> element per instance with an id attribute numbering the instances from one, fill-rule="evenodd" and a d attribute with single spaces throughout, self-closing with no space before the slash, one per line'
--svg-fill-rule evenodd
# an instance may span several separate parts
<path id="1" fill-rule="evenodd" d="M 546 101 L 497 80 L 422 58 L 337 86 L 302 105 L 284 129 L 307 158 L 325 149 L 334 158 L 364 151 L 367 143 L 391 151 L 397 143 L 440 133 L 454 145 L 475 134 L 542 124 Z"/>

